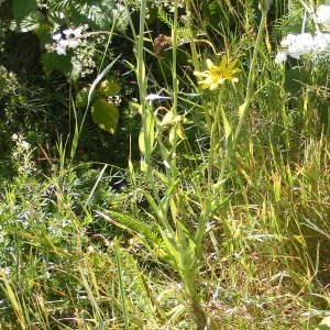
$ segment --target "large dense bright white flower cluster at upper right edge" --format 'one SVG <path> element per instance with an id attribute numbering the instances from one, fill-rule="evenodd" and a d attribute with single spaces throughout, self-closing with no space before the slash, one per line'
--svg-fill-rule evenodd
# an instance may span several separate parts
<path id="1" fill-rule="evenodd" d="M 282 51 L 277 53 L 275 63 L 279 64 L 287 59 L 287 56 L 299 59 L 300 56 L 309 55 L 318 57 L 330 55 L 330 6 L 319 6 L 316 12 L 316 22 L 320 23 L 324 32 L 288 34 L 282 42 Z"/>

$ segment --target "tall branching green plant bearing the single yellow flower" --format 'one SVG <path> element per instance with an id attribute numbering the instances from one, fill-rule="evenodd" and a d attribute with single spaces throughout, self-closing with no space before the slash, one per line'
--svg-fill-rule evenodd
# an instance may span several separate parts
<path id="1" fill-rule="evenodd" d="M 243 125 L 248 105 L 251 101 L 253 92 L 253 73 L 256 65 L 256 55 L 260 52 L 263 31 L 265 28 L 265 18 L 268 11 L 268 6 L 262 7 L 262 21 L 255 43 L 255 51 L 250 66 L 250 74 L 248 79 L 248 91 L 244 103 L 240 107 L 240 122 L 237 130 L 233 132 L 227 120 L 224 109 L 222 107 L 222 85 L 227 81 L 238 82 L 235 74 L 240 72 L 235 67 L 237 61 L 229 63 L 228 56 L 221 58 L 220 65 L 217 66 L 211 59 L 207 59 L 208 69 L 205 72 L 195 72 L 197 77 L 202 78 L 198 84 L 202 89 L 210 89 L 211 91 L 220 87 L 218 108 L 215 112 L 209 114 L 207 122 L 210 124 L 210 155 L 208 158 L 207 172 L 207 188 L 206 191 L 200 194 L 200 216 L 196 223 L 196 229 L 191 232 L 189 223 L 184 219 L 183 215 L 187 212 L 187 205 L 185 202 L 185 193 L 180 189 L 180 175 L 177 165 L 177 148 L 179 143 L 184 140 L 184 132 L 182 129 L 183 116 L 178 114 L 178 78 L 177 78 L 177 20 L 178 20 L 178 1 L 174 1 L 174 19 L 172 26 L 172 47 L 173 47 L 173 62 L 172 62 L 172 107 L 166 109 L 166 114 L 163 121 L 157 120 L 157 109 L 153 110 L 151 95 L 147 96 L 147 80 L 145 77 L 145 61 L 144 61 L 144 22 L 145 22 L 145 6 L 146 2 L 141 2 L 140 8 L 140 31 L 136 47 L 136 76 L 140 90 L 140 113 L 142 116 L 142 130 L 139 139 L 140 151 L 142 154 L 141 169 L 147 174 L 150 185 L 153 187 L 152 194 L 145 194 L 145 197 L 153 210 L 153 218 L 158 222 L 158 234 L 162 238 L 162 244 L 166 256 L 172 261 L 175 270 L 179 274 L 184 294 L 186 295 L 189 307 L 196 319 L 198 329 L 210 327 L 216 329 L 217 326 L 205 312 L 201 307 L 201 292 L 198 285 L 199 270 L 202 264 L 204 255 L 204 240 L 210 230 L 211 220 L 221 200 L 224 199 L 221 189 L 224 175 L 227 173 L 227 165 L 232 156 L 231 151 L 234 150 L 237 140 L 240 135 Z M 267 4 L 267 3 L 266 3 Z M 161 97 L 157 97 L 161 98 Z M 166 98 L 165 98 L 166 99 Z M 217 141 L 218 127 L 218 111 L 223 119 L 226 130 L 226 138 L 228 141 L 228 152 L 221 164 L 220 176 L 213 183 L 213 165 L 215 165 L 215 151 L 219 147 Z M 208 111 L 208 110 L 207 110 Z M 165 129 L 166 128 L 166 129 Z M 168 140 L 168 144 L 165 141 Z M 158 147 L 161 157 L 164 163 L 165 175 L 162 174 L 152 162 L 152 154 Z M 156 188 L 156 178 L 161 178 L 164 185 L 163 190 L 165 195 L 160 196 Z M 219 193 L 220 191 L 220 193 Z M 204 196 L 204 197 L 201 197 Z M 218 201 L 217 201 L 218 200 Z M 117 217 L 117 221 L 120 217 Z M 136 230 L 132 228 L 133 230 Z"/>

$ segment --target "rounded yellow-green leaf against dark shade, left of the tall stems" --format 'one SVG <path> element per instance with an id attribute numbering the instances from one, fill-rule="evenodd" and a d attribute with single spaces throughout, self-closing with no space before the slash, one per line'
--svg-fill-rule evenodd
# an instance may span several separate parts
<path id="1" fill-rule="evenodd" d="M 91 106 L 91 118 L 101 130 L 114 134 L 119 121 L 119 109 L 114 103 L 98 98 Z"/>

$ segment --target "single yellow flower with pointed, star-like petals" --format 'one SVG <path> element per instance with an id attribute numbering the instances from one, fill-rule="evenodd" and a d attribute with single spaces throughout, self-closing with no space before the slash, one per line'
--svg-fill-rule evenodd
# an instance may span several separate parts
<path id="1" fill-rule="evenodd" d="M 239 81 L 239 79 L 233 76 L 235 73 L 240 72 L 239 68 L 234 67 L 235 64 L 237 61 L 229 64 L 226 55 L 222 56 L 219 66 L 215 65 L 211 59 L 207 59 L 208 69 L 202 73 L 195 72 L 194 75 L 205 78 L 204 80 L 198 81 L 202 89 L 209 88 L 210 90 L 215 90 L 219 85 L 223 85 L 226 80 L 231 80 L 232 82 Z"/>

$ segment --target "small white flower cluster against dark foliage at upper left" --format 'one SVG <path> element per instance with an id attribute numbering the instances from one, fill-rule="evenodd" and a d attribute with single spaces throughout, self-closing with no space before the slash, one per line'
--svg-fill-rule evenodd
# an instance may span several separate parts
<path id="1" fill-rule="evenodd" d="M 55 41 L 55 51 L 58 55 L 66 55 L 67 48 L 76 48 L 79 45 L 79 38 L 81 37 L 81 32 L 84 26 L 78 26 L 77 29 L 67 29 L 62 33 L 57 32 L 53 35 Z"/>

